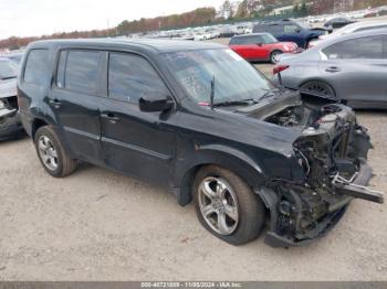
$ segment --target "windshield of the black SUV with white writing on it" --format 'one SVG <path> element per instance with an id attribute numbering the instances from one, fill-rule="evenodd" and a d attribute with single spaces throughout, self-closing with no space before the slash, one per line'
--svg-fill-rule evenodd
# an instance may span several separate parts
<path id="1" fill-rule="evenodd" d="M 197 103 L 209 103 L 215 78 L 215 103 L 259 99 L 273 85 L 233 51 L 201 50 L 163 54 L 175 78 Z"/>

